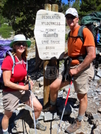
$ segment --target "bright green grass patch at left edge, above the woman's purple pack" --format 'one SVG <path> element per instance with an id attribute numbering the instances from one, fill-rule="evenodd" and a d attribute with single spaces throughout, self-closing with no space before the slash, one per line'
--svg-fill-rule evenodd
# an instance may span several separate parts
<path id="1" fill-rule="evenodd" d="M 2 24 L 0 27 L 0 35 L 2 38 L 10 38 L 11 37 L 11 32 L 13 32 L 13 29 L 11 26 L 7 24 Z"/>

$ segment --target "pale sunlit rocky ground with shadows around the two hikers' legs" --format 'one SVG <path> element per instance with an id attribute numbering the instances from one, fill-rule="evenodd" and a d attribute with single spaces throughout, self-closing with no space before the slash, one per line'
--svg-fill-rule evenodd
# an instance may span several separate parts
<path id="1" fill-rule="evenodd" d="M 29 48 L 28 60 L 29 63 L 32 59 L 33 65 L 35 64 L 35 49 Z M 31 61 L 31 63 L 32 63 Z M 32 66 L 33 66 L 32 65 Z M 62 68 L 62 66 L 61 66 Z M 98 75 L 101 76 L 101 66 L 98 68 Z M 37 79 L 33 79 L 34 88 L 33 92 L 43 104 L 43 71 L 33 72 L 32 74 L 41 76 Z M 41 73 L 41 74 L 40 74 Z M 33 77 L 34 78 L 34 77 Z M 95 76 L 93 81 L 89 81 L 89 91 L 88 91 L 88 107 L 82 121 L 82 127 L 77 130 L 74 134 L 101 134 L 101 78 Z M 64 113 L 64 117 L 61 121 L 60 128 L 58 124 L 60 123 L 61 113 L 63 105 L 65 103 L 65 98 L 67 96 L 69 86 L 64 87 L 59 91 L 57 99 L 57 109 L 58 113 L 41 113 L 39 118 L 40 122 L 47 126 L 46 131 L 37 130 L 37 134 L 65 134 L 65 129 L 73 122 L 73 119 L 76 118 L 78 114 L 79 102 L 74 92 L 73 85 L 71 86 L 71 91 L 69 94 L 68 104 Z M 24 110 L 26 109 L 26 110 Z M 28 112 L 30 111 L 30 114 Z M 2 90 L 0 90 L 0 121 L 3 116 L 3 104 L 2 104 Z M 29 116 L 30 115 L 30 116 Z M 23 104 L 19 105 L 19 108 L 14 111 L 14 115 L 10 120 L 10 128 L 12 128 L 13 133 L 20 134 L 34 134 L 35 130 L 33 129 L 33 120 L 32 120 L 31 109 Z M 0 132 L 1 134 L 2 132 Z M 36 134 L 36 133 L 35 133 Z"/>

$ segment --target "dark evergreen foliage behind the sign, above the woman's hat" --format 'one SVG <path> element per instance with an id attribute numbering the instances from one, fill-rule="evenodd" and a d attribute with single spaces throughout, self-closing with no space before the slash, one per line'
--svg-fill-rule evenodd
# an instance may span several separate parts
<path id="1" fill-rule="evenodd" d="M 7 18 L 15 34 L 23 33 L 26 37 L 34 37 L 36 13 L 44 9 L 44 4 L 58 4 L 61 0 L 0 0 L 0 13 Z"/>

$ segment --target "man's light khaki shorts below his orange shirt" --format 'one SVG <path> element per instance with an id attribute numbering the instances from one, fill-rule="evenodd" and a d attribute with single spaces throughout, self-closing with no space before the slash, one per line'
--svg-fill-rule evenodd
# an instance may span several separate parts
<path id="1" fill-rule="evenodd" d="M 71 68 L 75 68 L 77 66 L 72 66 Z M 59 73 L 58 78 L 62 80 L 63 71 Z M 94 66 L 92 63 L 90 64 L 90 67 L 85 69 L 84 71 L 80 72 L 79 74 L 75 75 L 73 77 L 73 84 L 75 88 L 76 93 L 85 94 L 88 92 L 89 80 L 93 79 L 94 77 Z"/>

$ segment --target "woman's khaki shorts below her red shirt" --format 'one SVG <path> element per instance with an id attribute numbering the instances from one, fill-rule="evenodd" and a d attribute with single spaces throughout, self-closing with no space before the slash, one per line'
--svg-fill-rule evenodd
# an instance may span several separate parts
<path id="1" fill-rule="evenodd" d="M 29 90 L 18 90 L 12 92 L 3 91 L 3 107 L 5 110 L 13 112 L 20 102 L 27 102 L 30 96 L 32 98 L 35 97 L 34 94 L 30 94 Z"/>

